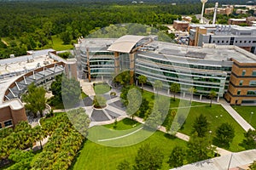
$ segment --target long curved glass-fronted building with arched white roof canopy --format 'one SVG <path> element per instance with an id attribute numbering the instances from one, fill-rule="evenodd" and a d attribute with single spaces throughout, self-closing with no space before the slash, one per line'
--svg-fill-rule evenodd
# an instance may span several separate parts
<path id="1" fill-rule="evenodd" d="M 133 81 L 139 75 L 148 77 L 148 84 L 160 80 L 166 92 L 173 82 L 177 82 L 184 95 L 194 87 L 201 97 L 212 90 L 218 94 L 218 99 L 224 97 L 230 93 L 235 61 L 247 63 L 252 71 L 256 71 L 256 56 L 236 46 L 205 44 L 199 48 L 159 42 L 154 37 L 124 36 L 118 39 L 83 39 L 76 48 L 84 78 L 106 80 L 128 70 L 134 75 Z M 256 77 L 252 78 L 256 80 Z M 254 85 L 250 88 L 256 90 Z M 233 100 L 229 100 L 231 104 L 242 103 Z"/>

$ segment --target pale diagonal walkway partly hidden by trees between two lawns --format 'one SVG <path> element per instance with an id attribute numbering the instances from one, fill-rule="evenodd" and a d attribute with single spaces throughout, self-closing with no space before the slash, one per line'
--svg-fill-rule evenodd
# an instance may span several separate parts
<path id="1" fill-rule="evenodd" d="M 145 122 L 143 121 L 143 119 L 140 118 L 140 117 L 134 116 L 133 119 L 136 120 L 137 122 L 142 123 L 142 124 L 145 123 Z M 163 132 L 163 133 L 166 133 L 166 127 L 160 126 L 160 127 L 158 128 L 158 130 L 161 131 L 161 132 Z M 175 134 L 175 136 L 176 136 L 178 139 L 182 139 L 182 140 L 187 141 L 187 142 L 189 141 L 189 136 L 186 135 L 186 134 L 178 133 L 178 132 L 177 132 L 177 133 Z M 230 152 L 229 150 L 224 150 L 224 149 L 218 148 L 218 147 L 216 147 L 216 150 L 217 150 L 217 152 L 218 152 L 218 154 L 219 154 L 220 156 L 230 155 L 230 154 L 232 153 L 232 152 Z"/>

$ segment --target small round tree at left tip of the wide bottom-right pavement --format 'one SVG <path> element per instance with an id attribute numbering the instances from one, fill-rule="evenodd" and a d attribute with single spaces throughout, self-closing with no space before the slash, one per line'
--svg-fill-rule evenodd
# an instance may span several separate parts
<path id="1" fill-rule="evenodd" d="M 181 167 L 183 166 L 183 162 L 185 161 L 185 159 L 186 150 L 183 150 L 183 148 L 180 146 L 176 146 L 175 148 L 173 148 L 167 163 L 170 167 Z"/>

